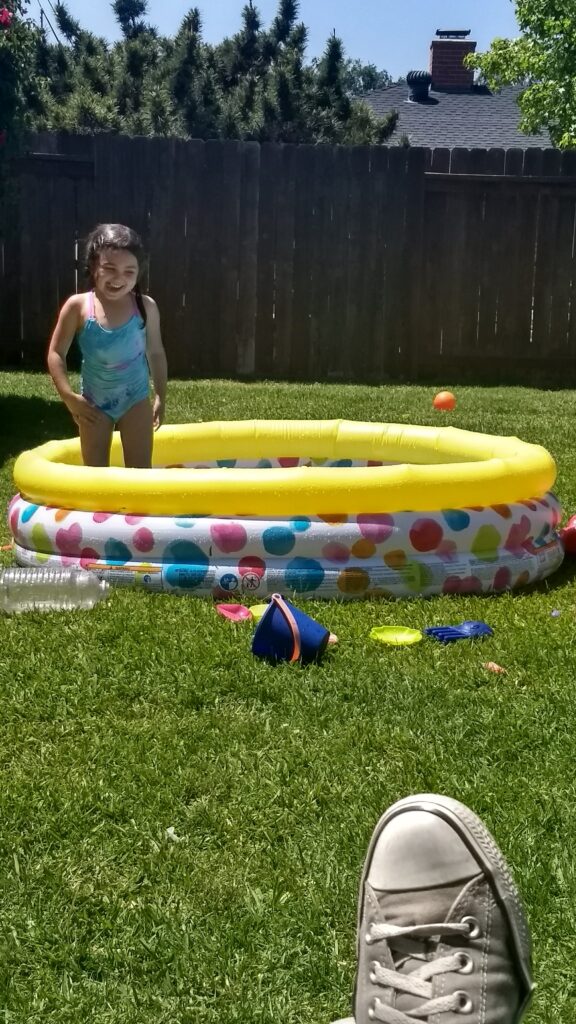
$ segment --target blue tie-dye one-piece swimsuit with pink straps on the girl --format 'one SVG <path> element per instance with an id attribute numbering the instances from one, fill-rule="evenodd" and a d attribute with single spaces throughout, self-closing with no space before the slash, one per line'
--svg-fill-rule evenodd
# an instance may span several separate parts
<path id="1" fill-rule="evenodd" d="M 146 325 L 132 296 L 134 311 L 122 327 L 105 328 L 94 313 L 89 293 L 88 319 L 78 335 L 82 352 L 82 394 L 118 422 L 132 406 L 150 395 L 146 357 Z"/>

